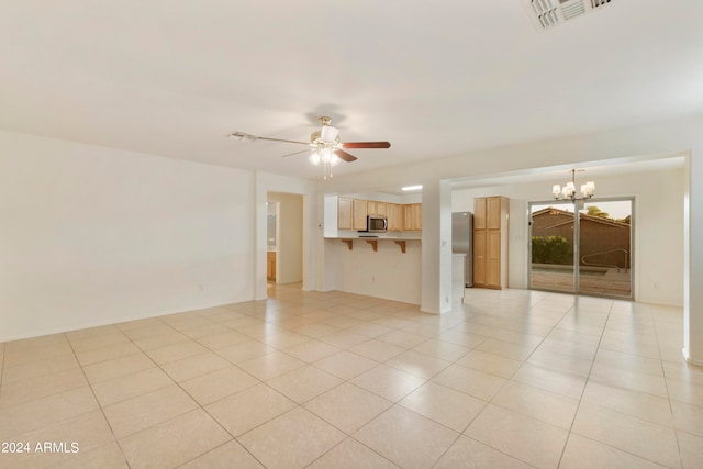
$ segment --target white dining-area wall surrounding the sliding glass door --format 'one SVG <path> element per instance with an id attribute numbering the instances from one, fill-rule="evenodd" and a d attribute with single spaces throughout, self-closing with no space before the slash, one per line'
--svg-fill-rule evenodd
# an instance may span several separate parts
<path id="1" fill-rule="evenodd" d="M 683 168 L 602 176 L 595 178 L 595 203 L 599 197 L 635 198 L 635 299 L 646 303 L 683 305 Z M 451 210 L 455 212 L 472 211 L 476 197 L 505 196 L 511 199 L 511 288 L 527 287 L 528 202 L 549 202 L 550 191 L 551 182 L 547 181 L 453 192 Z"/>

